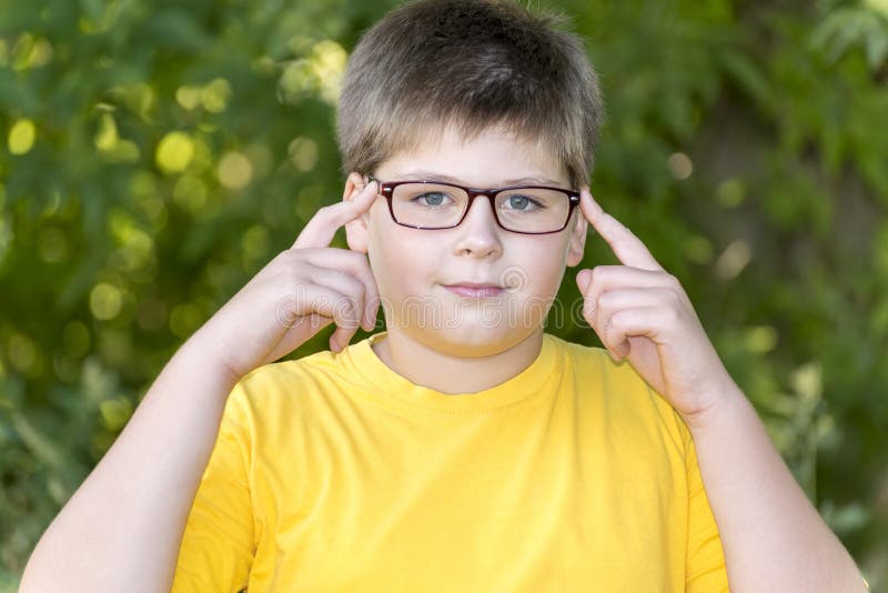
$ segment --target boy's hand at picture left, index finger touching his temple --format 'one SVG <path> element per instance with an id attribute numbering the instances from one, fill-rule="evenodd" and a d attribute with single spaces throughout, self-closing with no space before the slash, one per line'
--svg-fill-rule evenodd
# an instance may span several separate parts
<path id="1" fill-rule="evenodd" d="M 274 362 L 335 322 L 341 352 L 359 325 L 372 331 L 379 289 L 366 254 L 329 247 L 336 230 L 373 204 L 377 184 L 321 208 L 291 249 L 278 254 L 194 334 L 232 379 Z"/>

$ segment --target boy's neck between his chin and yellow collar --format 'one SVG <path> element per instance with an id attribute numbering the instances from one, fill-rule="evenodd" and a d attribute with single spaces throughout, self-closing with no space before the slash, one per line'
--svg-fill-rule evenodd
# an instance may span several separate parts
<path id="1" fill-rule="evenodd" d="M 543 329 L 490 356 L 463 358 L 438 352 L 396 329 L 373 343 L 373 351 L 412 383 L 442 393 L 475 393 L 512 379 L 533 363 L 543 348 Z"/>

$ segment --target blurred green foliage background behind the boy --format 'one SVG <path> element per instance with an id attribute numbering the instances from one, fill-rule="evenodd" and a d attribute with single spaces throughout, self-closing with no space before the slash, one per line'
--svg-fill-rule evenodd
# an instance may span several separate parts
<path id="1" fill-rule="evenodd" d="M 0 591 L 175 349 L 340 199 L 339 79 L 395 3 L 4 0 Z M 888 2 L 533 6 L 571 16 L 601 73 L 595 195 L 885 585 Z"/>

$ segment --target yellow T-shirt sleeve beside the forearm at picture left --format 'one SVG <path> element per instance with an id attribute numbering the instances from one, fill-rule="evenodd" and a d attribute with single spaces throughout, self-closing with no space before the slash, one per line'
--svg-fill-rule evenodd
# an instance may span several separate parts
<path id="1" fill-rule="evenodd" d="M 172 593 L 238 592 L 246 586 L 254 530 L 243 396 L 239 383 L 225 402 L 182 535 Z"/>

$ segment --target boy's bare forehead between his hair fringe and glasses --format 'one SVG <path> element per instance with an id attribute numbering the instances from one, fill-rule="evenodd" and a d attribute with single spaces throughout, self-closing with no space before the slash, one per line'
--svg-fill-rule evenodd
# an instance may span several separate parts
<path id="1" fill-rule="evenodd" d="M 465 137 L 454 125 L 426 128 L 376 169 L 381 179 L 437 179 L 473 187 L 566 185 L 567 173 L 536 139 L 501 127 Z"/>

